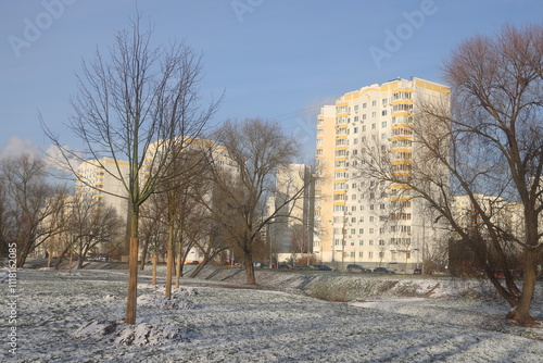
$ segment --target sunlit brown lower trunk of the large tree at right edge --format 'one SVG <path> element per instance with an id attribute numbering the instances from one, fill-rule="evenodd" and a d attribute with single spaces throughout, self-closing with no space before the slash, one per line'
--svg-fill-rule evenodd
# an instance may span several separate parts
<path id="1" fill-rule="evenodd" d="M 538 279 L 538 259 L 535 251 L 527 251 L 525 255 L 525 270 L 522 277 L 522 293 L 518 304 L 514 306 L 507 317 L 525 326 L 535 325 L 535 320 L 530 315 L 530 305 Z"/>

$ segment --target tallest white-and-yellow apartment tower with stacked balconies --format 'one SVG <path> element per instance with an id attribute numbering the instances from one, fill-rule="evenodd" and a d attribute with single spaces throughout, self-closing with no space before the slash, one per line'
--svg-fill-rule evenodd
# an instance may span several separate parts
<path id="1" fill-rule="evenodd" d="M 409 176 L 417 161 L 417 102 L 449 103 L 450 89 L 420 78 L 393 79 L 342 95 L 317 118 L 315 187 L 317 258 L 407 271 L 422 263 L 444 231 L 403 185 L 364 178 L 367 154 L 387 154 L 393 173 Z M 363 155 L 366 154 L 366 155 Z"/>

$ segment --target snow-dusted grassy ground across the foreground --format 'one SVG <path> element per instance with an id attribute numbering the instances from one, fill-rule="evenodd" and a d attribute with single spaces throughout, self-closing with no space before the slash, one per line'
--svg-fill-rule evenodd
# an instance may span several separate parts
<path id="1" fill-rule="evenodd" d="M 4 318 L 0 361 L 543 360 L 543 340 L 538 340 L 543 329 L 505 321 L 506 306 L 476 293 L 484 289 L 480 283 L 260 272 L 264 289 L 248 289 L 239 288 L 243 273 L 209 270 L 201 279 L 184 279 L 185 288 L 165 302 L 148 275 L 140 278 L 138 325 L 130 330 L 118 322 L 126 272 L 18 270 L 16 354 L 9 352 L 12 325 Z M 7 288 L 4 280 L 4 311 L 11 303 Z M 535 298 L 532 313 L 543 320 L 541 285 Z M 106 330 L 116 335 L 106 337 Z"/>

